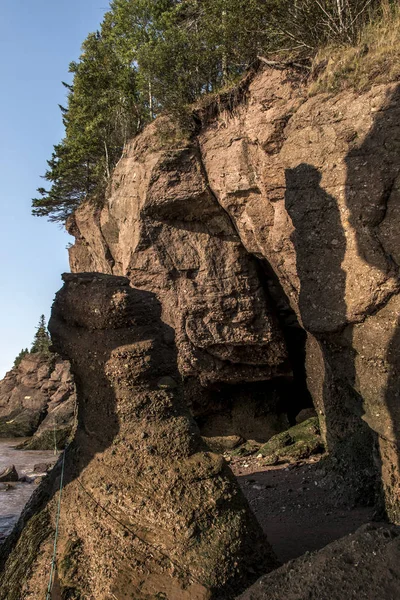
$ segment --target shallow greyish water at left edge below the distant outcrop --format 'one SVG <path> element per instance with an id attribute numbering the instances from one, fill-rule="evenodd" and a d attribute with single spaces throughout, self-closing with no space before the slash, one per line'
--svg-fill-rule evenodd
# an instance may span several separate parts
<path id="1" fill-rule="evenodd" d="M 0 439 L 0 473 L 11 465 L 15 465 L 21 477 L 37 477 L 33 468 L 38 463 L 54 463 L 57 455 L 49 450 L 16 450 L 15 446 L 24 440 Z M 18 520 L 25 504 L 37 488 L 37 483 L 17 482 L 10 484 L 10 489 L 0 489 L 0 544 L 10 533 Z"/>

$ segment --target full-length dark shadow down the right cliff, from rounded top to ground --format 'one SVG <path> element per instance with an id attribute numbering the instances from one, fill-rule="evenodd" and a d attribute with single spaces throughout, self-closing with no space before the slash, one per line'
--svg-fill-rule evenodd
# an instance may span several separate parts
<path id="1" fill-rule="evenodd" d="M 349 503 L 369 503 L 375 493 L 373 442 L 361 419 L 362 398 L 353 389 L 354 350 L 341 338 L 347 323 L 347 274 L 342 268 L 347 241 L 340 204 L 322 188 L 318 169 L 300 164 L 286 171 L 285 206 L 294 226 L 300 318 L 311 334 L 308 361 L 316 355 L 316 368 L 324 374 L 322 389 L 313 390 L 313 395 L 323 414 L 326 445 L 340 458 L 334 465 L 335 476 L 338 483 L 345 479 L 341 487 Z M 316 379 L 321 379 L 320 372 Z M 310 366 L 308 380 L 312 385 Z"/>

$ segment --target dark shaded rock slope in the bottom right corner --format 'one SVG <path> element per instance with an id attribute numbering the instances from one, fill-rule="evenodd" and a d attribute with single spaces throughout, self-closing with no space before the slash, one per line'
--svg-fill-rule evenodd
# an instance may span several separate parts
<path id="1" fill-rule="evenodd" d="M 400 596 L 400 529 L 363 525 L 262 577 L 238 600 L 395 600 Z"/>

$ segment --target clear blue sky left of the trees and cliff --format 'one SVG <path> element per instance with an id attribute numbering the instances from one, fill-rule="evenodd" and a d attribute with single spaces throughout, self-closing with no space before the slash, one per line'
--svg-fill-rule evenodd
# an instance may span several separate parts
<path id="1" fill-rule="evenodd" d="M 49 317 L 71 238 L 31 216 L 53 145 L 68 64 L 108 0 L 0 0 L 0 378 Z"/>

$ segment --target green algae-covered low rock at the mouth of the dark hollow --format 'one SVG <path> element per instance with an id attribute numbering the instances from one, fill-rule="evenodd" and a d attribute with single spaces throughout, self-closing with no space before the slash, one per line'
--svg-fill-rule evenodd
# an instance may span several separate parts
<path id="1" fill-rule="evenodd" d="M 266 464 L 296 461 L 324 451 L 318 417 L 303 421 L 287 431 L 274 435 L 258 452 Z"/>

